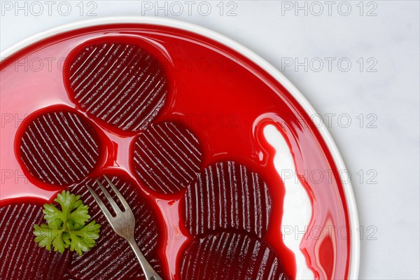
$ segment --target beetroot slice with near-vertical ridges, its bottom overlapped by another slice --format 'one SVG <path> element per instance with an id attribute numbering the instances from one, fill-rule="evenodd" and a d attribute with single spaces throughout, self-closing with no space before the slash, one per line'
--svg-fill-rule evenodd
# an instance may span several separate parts
<path id="1" fill-rule="evenodd" d="M 208 230 L 236 229 L 264 237 L 271 198 L 258 174 L 232 161 L 218 162 L 188 186 L 183 213 L 193 236 Z"/>

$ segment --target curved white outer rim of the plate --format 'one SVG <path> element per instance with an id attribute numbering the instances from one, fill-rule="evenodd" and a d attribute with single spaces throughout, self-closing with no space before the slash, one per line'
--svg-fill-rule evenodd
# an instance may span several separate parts
<path id="1" fill-rule="evenodd" d="M 64 25 L 59 25 L 58 27 L 54 27 L 51 29 L 47 29 L 45 31 L 41 31 L 37 34 L 29 36 L 14 45 L 11 45 L 6 50 L 0 53 L 0 61 L 10 57 L 15 52 L 22 50 L 22 48 L 27 47 L 37 41 L 41 41 L 44 38 L 48 38 L 50 36 L 54 36 L 56 34 L 60 34 L 66 31 L 71 31 L 74 29 L 80 29 L 83 27 L 92 27 L 97 25 L 108 25 L 108 24 L 118 24 L 118 23 L 134 23 L 134 24 L 149 24 L 149 25 L 161 25 L 166 27 L 174 27 L 178 29 L 184 29 L 186 31 L 191 31 L 202 36 L 207 36 L 208 38 L 213 39 L 214 41 L 218 41 L 223 45 L 236 50 L 241 55 L 244 55 L 251 61 L 255 62 L 258 66 L 262 69 L 267 71 L 269 75 L 274 77 L 283 87 L 292 94 L 292 96 L 296 99 L 296 101 L 302 106 L 304 111 L 309 116 L 314 116 L 316 111 L 314 107 L 307 101 L 307 99 L 303 96 L 302 92 L 293 85 L 293 83 L 286 78 L 279 70 L 277 70 L 272 64 L 269 64 L 265 59 L 260 57 L 259 55 L 255 54 L 252 50 L 244 47 L 237 41 L 233 41 L 232 39 L 219 34 L 216 31 L 212 31 L 205 27 L 201 27 L 199 25 L 194 25 L 189 22 L 183 22 L 181 20 L 173 20 L 169 18 L 159 18 L 159 17 L 133 17 L 133 16 L 116 16 L 116 17 L 106 17 L 106 18 L 95 18 L 90 20 L 79 20 L 76 22 L 66 23 Z M 338 151 L 337 145 L 335 141 L 332 139 L 332 136 L 325 125 L 320 127 L 317 126 L 318 132 L 320 132 L 325 144 L 328 147 L 332 155 L 332 159 L 335 162 L 335 165 L 338 170 L 347 170 L 346 166 L 344 165 L 344 161 L 342 159 L 341 154 Z M 358 221 L 358 211 L 356 206 L 356 200 L 353 193 L 353 188 L 351 181 L 342 182 L 342 186 L 344 189 L 344 196 L 346 198 L 347 204 L 347 211 L 349 213 L 349 221 L 350 221 L 350 230 L 351 230 L 351 237 L 350 237 L 350 261 L 349 261 L 349 279 L 358 279 L 358 272 L 360 267 L 360 239 L 358 238 L 358 229 L 359 229 L 359 221 Z"/>

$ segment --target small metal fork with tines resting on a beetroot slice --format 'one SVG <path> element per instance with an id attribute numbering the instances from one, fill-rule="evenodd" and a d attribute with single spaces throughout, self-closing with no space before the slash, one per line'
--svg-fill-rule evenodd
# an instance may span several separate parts
<path id="1" fill-rule="evenodd" d="M 97 202 L 99 208 L 101 209 L 102 213 L 104 214 L 106 221 L 108 221 L 109 225 L 111 225 L 111 228 L 114 232 L 116 232 L 117 235 L 120 235 L 120 237 L 123 237 L 125 240 L 128 241 L 130 244 L 130 247 L 134 251 L 134 254 L 137 257 L 137 260 L 140 262 L 141 269 L 143 269 L 144 275 L 146 276 L 147 280 L 162 280 L 162 278 L 158 275 L 158 273 L 155 272 L 155 269 L 151 267 L 150 263 L 146 260 L 143 253 L 141 253 L 141 250 L 139 246 L 137 246 L 137 242 L 134 239 L 134 225 L 136 223 L 134 219 L 134 214 L 130 206 L 127 204 L 127 201 L 124 199 L 123 195 L 117 190 L 116 186 L 111 182 L 111 180 L 108 179 L 104 175 L 104 178 L 106 182 L 109 184 L 109 186 L 112 188 L 113 192 L 116 193 L 118 199 L 120 200 L 121 204 L 123 204 L 123 210 L 118 207 L 116 204 L 116 201 L 113 200 L 111 195 L 109 195 L 108 190 L 104 188 L 102 183 L 99 180 L 96 180 L 97 185 L 99 188 L 101 188 L 102 193 L 104 193 L 106 199 L 108 200 L 109 204 L 111 204 L 111 207 L 113 211 L 116 213 L 116 216 L 112 216 L 108 209 L 106 209 L 104 202 L 99 198 L 99 196 L 90 188 L 89 186 L 86 186 L 87 189 L 92 194 L 92 197 L 95 202 Z"/>

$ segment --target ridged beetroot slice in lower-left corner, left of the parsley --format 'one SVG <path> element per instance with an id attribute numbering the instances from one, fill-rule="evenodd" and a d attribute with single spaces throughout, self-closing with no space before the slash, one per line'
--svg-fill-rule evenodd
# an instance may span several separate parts
<path id="1" fill-rule="evenodd" d="M 0 208 L 0 279 L 62 279 L 71 254 L 47 251 L 34 241 L 34 224 L 45 223 L 42 207 L 10 204 Z"/>

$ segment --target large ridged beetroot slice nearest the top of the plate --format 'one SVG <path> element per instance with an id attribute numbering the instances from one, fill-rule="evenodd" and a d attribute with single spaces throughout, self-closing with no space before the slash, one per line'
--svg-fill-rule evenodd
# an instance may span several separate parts
<path id="1" fill-rule="evenodd" d="M 163 66 L 139 45 L 95 43 L 73 57 L 73 99 L 83 111 L 123 131 L 143 130 L 167 97 Z"/>

